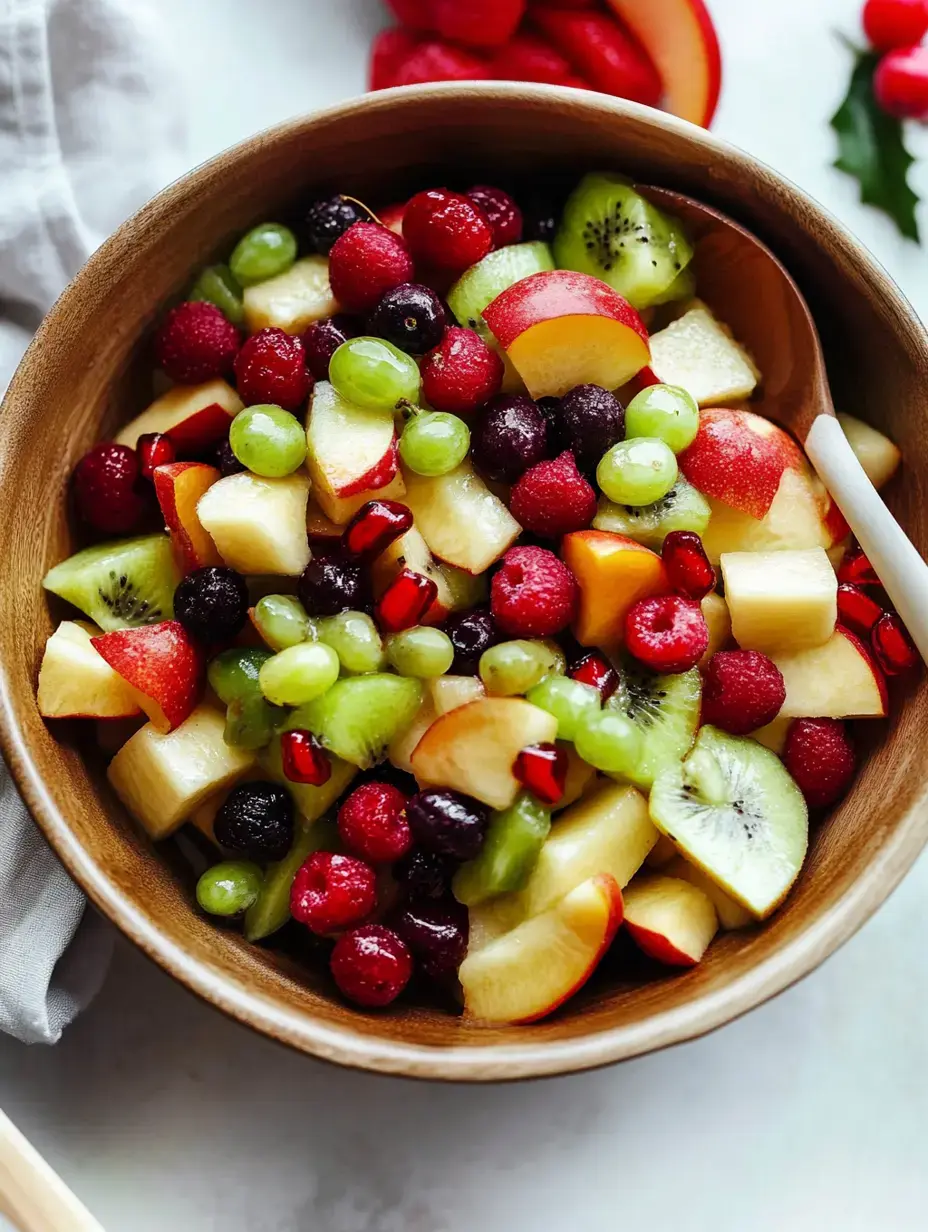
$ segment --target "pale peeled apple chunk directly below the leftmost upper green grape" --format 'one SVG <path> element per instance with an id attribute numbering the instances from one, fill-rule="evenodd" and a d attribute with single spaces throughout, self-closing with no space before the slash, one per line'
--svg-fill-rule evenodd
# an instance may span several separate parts
<path id="1" fill-rule="evenodd" d="M 264 479 L 245 471 L 214 483 L 196 511 L 233 569 L 296 577 L 309 563 L 308 499 L 309 480 L 299 472 Z"/>

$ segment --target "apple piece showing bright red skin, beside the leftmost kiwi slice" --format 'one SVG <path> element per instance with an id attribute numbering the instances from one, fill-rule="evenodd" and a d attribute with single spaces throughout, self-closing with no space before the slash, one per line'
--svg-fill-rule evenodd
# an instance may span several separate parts
<path id="1" fill-rule="evenodd" d="M 120 628 L 91 646 L 132 686 L 159 732 L 179 727 L 203 691 L 203 654 L 180 621 Z"/>

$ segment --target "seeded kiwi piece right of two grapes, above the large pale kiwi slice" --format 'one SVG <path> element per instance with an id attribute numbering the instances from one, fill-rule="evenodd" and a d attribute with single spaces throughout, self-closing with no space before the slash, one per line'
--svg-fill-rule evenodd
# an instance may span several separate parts
<path id="1" fill-rule="evenodd" d="M 621 683 L 605 705 L 625 715 L 641 732 L 641 756 L 633 774 L 622 775 L 647 790 L 668 766 L 690 750 L 699 726 L 702 679 L 698 668 L 678 676 L 656 676 L 622 664 Z M 619 777 L 619 776 L 616 776 Z"/>

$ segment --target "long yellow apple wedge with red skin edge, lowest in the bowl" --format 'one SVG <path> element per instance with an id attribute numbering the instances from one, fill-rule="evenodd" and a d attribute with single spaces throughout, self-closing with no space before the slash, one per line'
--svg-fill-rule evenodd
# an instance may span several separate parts
<path id="1" fill-rule="evenodd" d="M 488 1023 L 534 1023 L 593 975 L 622 920 L 614 877 L 590 877 L 550 910 L 461 963 L 465 1013 Z"/>

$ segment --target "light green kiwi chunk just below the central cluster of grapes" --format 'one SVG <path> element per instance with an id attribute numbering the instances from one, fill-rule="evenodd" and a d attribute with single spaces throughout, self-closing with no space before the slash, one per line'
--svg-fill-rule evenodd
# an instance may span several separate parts
<path id="1" fill-rule="evenodd" d="M 307 728 L 335 756 L 367 770 L 383 760 L 393 737 L 409 727 L 421 700 L 421 681 L 409 676 L 345 676 L 293 711 L 288 726 Z"/>

